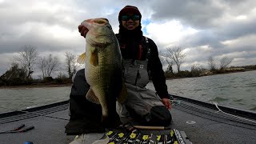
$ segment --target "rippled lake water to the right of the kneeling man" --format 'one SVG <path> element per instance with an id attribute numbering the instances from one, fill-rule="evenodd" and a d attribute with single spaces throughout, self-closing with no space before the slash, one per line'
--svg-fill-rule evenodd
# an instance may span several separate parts
<path id="1" fill-rule="evenodd" d="M 166 81 L 170 94 L 256 111 L 256 71 Z M 152 89 L 150 83 L 148 88 Z"/>

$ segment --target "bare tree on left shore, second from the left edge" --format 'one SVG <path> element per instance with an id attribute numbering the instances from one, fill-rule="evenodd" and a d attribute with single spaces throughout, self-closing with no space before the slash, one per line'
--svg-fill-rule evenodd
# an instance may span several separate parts
<path id="1" fill-rule="evenodd" d="M 49 54 L 47 57 L 39 58 L 38 68 L 42 70 L 42 78 L 50 77 L 50 74 L 58 68 L 58 58 Z"/>

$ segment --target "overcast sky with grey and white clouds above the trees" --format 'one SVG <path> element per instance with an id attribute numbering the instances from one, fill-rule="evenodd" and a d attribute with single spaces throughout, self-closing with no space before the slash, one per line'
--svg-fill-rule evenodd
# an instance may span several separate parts
<path id="1" fill-rule="evenodd" d="M 158 51 L 182 47 L 182 70 L 194 64 L 207 67 L 210 56 L 217 65 L 223 57 L 233 58 L 231 66 L 256 64 L 255 0 L 0 0 L 0 75 L 22 46 L 34 46 L 41 56 L 53 54 L 61 62 L 65 52 L 82 54 L 86 42 L 78 25 L 104 17 L 118 33 L 118 13 L 126 5 L 141 11 L 143 34 Z"/>

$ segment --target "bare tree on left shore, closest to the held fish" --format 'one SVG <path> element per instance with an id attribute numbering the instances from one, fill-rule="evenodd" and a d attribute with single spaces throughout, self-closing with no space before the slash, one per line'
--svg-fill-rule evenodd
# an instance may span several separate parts
<path id="1" fill-rule="evenodd" d="M 66 70 L 67 70 L 67 73 L 69 74 L 69 78 L 72 78 L 81 65 L 77 63 L 78 57 L 75 56 L 74 54 L 71 54 L 70 52 L 66 52 L 65 56 L 66 56 L 66 59 L 65 59 Z"/>

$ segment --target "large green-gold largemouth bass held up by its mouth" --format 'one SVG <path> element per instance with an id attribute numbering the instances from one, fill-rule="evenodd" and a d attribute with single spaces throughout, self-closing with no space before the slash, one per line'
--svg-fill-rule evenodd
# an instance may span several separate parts
<path id="1" fill-rule="evenodd" d="M 119 118 L 116 100 L 122 103 L 127 95 L 122 81 L 122 55 L 118 40 L 106 18 L 87 19 L 82 25 L 89 30 L 86 53 L 78 58 L 78 63 L 85 63 L 86 81 L 90 85 L 86 99 L 101 104 L 102 121 L 114 122 Z"/>

